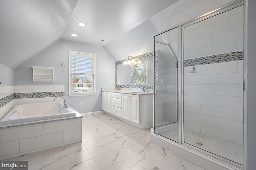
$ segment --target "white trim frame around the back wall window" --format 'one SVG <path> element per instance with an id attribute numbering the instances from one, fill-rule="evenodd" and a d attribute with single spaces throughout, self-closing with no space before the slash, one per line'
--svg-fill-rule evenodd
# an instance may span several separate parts
<path id="1" fill-rule="evenodd" d="M 94 92 L 91 93 L 83 93 L 83 92 L 79 92 L 79 93 L 71 93 L 71 73 L 72 73 L 72 55 L 71 53 L 76 53 L 77 55 L 81 55 L 81 56 L 86 56 L 86 55 L 90 55 L 92 56 L 94 59 L 93 62 L 93 90 Z M 78 51 L 68 51 L 68 65 L 69 65 L 69 69 L 68 69 L 68 96 L 95 96 L 97 94 L 96 92 L 96 54 L 93 53 L 84 53 L 84 52 L 78 52 Z"/>

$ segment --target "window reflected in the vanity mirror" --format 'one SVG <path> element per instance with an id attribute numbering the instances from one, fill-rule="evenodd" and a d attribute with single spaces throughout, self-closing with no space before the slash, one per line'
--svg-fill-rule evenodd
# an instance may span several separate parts
<path id="1" fill-rule="evenodd" d="M 141 64 L 134 65 L 134 85 L 145 85 L 147 83 L 147 74 L 148 74 L 148 61 L 142 61 Z"/>

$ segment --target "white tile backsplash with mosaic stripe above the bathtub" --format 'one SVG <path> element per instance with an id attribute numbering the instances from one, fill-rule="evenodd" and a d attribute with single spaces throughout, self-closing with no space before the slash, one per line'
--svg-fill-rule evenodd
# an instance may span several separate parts
<path id="1" fill-rule="evenodd" d="M 64 85 L 1 86 L 0 119 L 15 105 L 53 102 L 57 96 L 64 97 Z M 63 102 L 60 98 L 57 98 L 56 101 Z"/>

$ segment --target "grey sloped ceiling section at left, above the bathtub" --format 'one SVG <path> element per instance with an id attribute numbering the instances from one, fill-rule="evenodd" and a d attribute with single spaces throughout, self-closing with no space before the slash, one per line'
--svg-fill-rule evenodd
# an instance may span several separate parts
<path id="1" fill-rule="evenodd" d="M 0 63 L 15 70 L 60 39 L 77 0 L 1 0 Z"/>

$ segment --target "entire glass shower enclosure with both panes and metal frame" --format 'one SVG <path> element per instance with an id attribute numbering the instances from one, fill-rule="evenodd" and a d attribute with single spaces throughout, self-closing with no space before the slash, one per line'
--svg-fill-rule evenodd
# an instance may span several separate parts
<path id="1" fill-rule="evenodd" d="M 245 2 L 154 37 L 154 133 L 244 164 Z"/>

